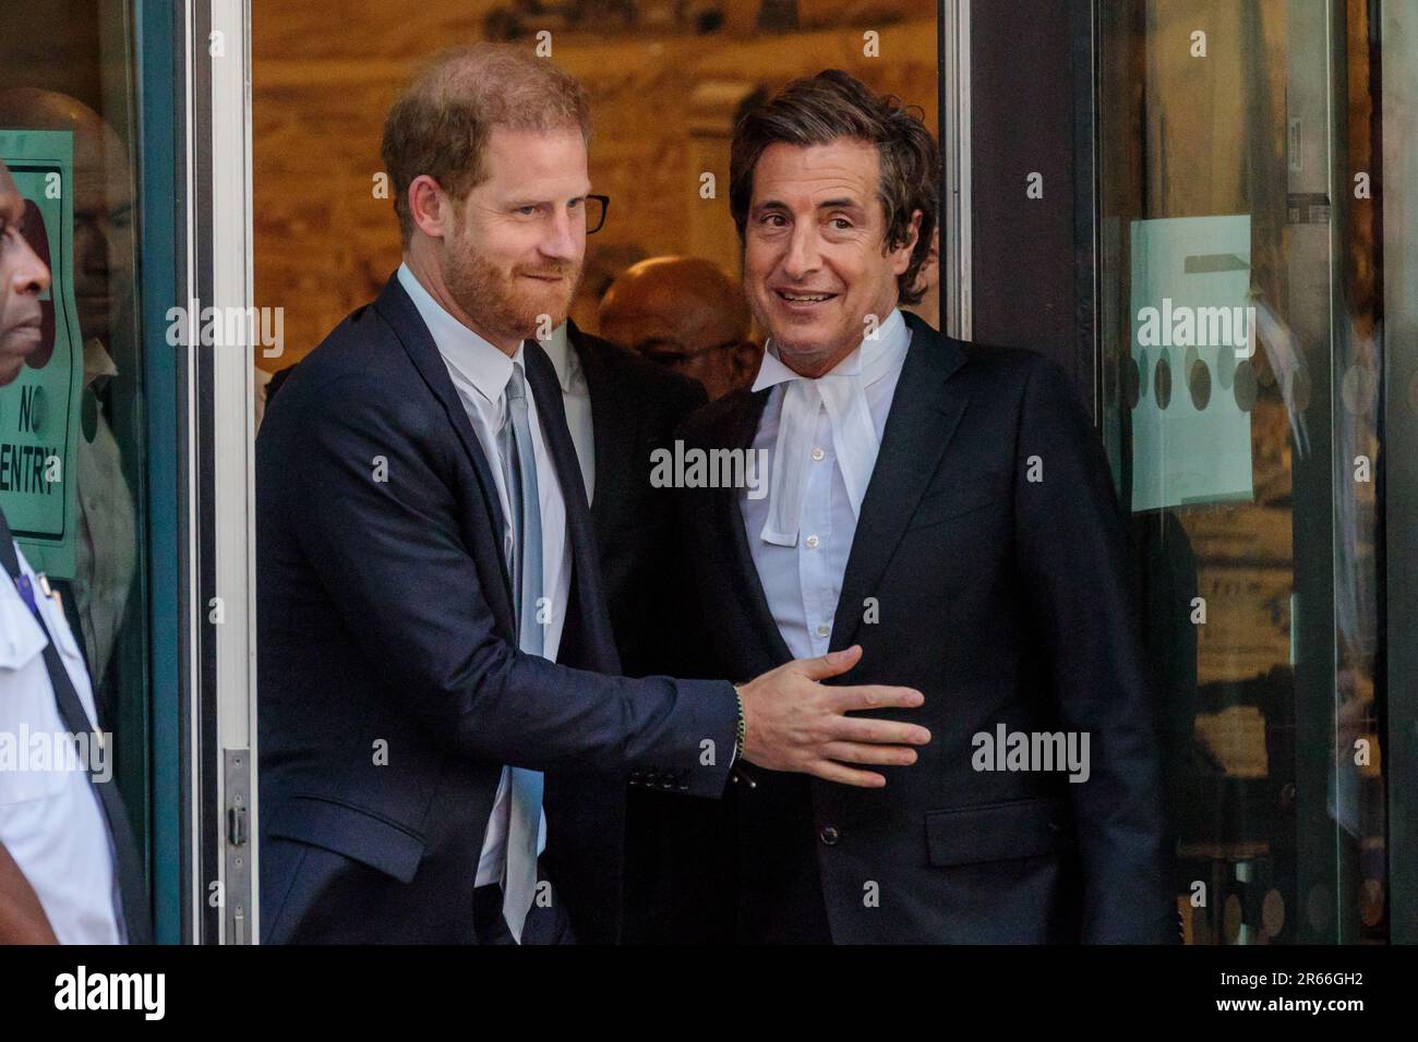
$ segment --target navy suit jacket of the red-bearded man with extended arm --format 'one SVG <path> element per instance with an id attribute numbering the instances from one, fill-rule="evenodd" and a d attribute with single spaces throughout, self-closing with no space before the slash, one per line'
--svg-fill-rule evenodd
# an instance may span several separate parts
<path id="1" fill-rule="evenodd" d="M 286 381 L 257 441 L 262 936 L 474 941 L 503 764 L 546 771 L 543 868 L 583 940 L 620 920 L 628 771 L 716 797 L 723 682 L 615 673 L 556 374 L 527 342 L 573 560 L 559 663 L 515 646 L 496 486 L 391 278 Z M 596 672 L 591 672 L 596 671 Z"/>

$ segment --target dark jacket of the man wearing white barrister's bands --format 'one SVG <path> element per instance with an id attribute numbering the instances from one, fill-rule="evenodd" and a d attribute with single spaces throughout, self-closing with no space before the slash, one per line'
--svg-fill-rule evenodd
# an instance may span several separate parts
<path id="1" fill-rule="evenodd" d="M 1054 363 L 905 318 L 912 343 L 831 648 L 864 648 L 841 682 L 920 689 L 923 707 L 875 715 L 932 741 L 915 766 L 883 768 L 883 790 L 750 767 L 757 788 L 730 787 L 725 805 L 736 838 L 685 846 L 720 876 L 689 900 L 735 903 L 740 940 L 791 931 L 771 920 L 814 904 L 848 943 L 1176 940 L 1154 705 L 1102 447 Z M 710 403 L 686 444 L 749 447 L 767 396 Z M 682 493 L 706 642 L 729 678 L 790 658 L 739 495 Z M 1000 723 L 1088 732 L 1090 778 L 974 770 L 973 736 Z M 821 900 L 801 893 L 818 886 Z"/>

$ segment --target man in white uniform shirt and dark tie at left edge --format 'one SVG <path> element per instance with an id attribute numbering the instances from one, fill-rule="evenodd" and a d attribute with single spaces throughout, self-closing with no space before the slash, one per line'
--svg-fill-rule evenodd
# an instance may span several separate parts
<path id="1" fill-rule="evenodd" d="M 45 336 L 50 272 L 0 163 L 0 387 Z M 88 669 L 0 512 L 0 943 L 149 943 L 146 883 Z"/>

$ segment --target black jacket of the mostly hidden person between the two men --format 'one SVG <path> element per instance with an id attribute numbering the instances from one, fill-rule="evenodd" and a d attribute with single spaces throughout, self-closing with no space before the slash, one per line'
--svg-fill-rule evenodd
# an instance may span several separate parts
<path id="1" fill-rule="evenodd" d="M 567 339 L 591 393 L 591 525 L 621 669 L 627 676 L 675 672 L 689 637 L 678 617 L 683 587 L 675 491 L 651 486 L 649 454 L 672 444 L 675 428 L 706 401 L 705 390 L 574 322 Z"/>

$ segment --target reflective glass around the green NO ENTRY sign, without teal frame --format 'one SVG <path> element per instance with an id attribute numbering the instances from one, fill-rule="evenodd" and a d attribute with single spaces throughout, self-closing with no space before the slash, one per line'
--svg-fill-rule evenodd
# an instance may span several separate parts
<path id="1" fill-rule="evenodd" d="M 72 255 L 54 258 L 78 310 L 74 574 L 55 577 L 115 736 L 119 784 L 146 831 L 143 371 L 136 286 L 136 119 L 128 3 L 34 0 L 0 38 L 0 129 L 72 136 Z M 61 272 L 55 271 L 55 279 Z"/>

